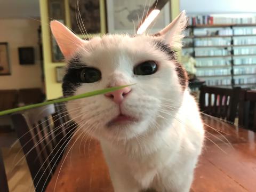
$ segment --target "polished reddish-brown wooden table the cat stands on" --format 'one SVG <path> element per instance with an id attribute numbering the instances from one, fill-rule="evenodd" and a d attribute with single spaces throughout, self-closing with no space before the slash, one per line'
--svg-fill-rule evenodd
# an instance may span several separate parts
<path id="1" fill-rule="evenodd" d="M 256 191 L 255 133 L 218 119 L 203 118 L 208 125 L 205 147 L 191 191 Z M 85 139 L 78 140 L 63 165 L 59 164 L 46 191 L 52 192 L 54 187 L 61 192 L 113 191 L 99 143 Z"/>

